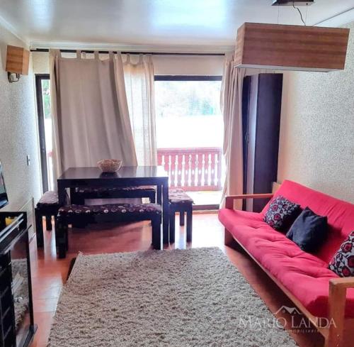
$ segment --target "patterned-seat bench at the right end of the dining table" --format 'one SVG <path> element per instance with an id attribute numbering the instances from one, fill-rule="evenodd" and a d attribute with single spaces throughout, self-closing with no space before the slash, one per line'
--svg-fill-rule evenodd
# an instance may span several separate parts
<path id="1" fill-rule="evenodd" d="M 175 242 L 175 219 L 176 212 L 179 212 L 180 226 L 185 224 L 187 219 L 187 242 L 192 241 L 192 221 L 193 221 L 193 199 L 186 194 L 183 189 L 169 189 L 169 224 L 170 242 Z"/>

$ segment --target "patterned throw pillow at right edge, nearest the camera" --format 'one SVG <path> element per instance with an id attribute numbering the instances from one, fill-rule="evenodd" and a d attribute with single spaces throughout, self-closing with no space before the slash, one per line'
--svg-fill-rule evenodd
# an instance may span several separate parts
<path id="1" fill-rule="evenodd" d="M 329 270 L 332 270 L 340 277 L 354 276 L 354 231 L 342 243 L 336 255 L 334 255 Z"/>

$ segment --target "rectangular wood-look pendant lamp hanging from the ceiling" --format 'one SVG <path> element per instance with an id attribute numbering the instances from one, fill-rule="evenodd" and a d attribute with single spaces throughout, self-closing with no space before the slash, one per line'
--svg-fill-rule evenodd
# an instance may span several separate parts
<path id="1" fill-rule="evenodd" d="M 299 2 L 306 5 L 314 1 L 274 2 L 295 7 Z M 302 18 L 301 11 L 299 13 Z M 343 70 L 349 29 L 306 26 L 303 18 L 302 22 L 305 26 L 244 23 L 237 31 L 235 67 L 319 72 Z"/>

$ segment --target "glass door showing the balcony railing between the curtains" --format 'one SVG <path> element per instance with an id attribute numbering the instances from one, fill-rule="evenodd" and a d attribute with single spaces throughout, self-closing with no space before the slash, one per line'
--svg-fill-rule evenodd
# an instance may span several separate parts
<path id="1" fill-rule="evenodd" d="M 217 209 L 222 196 L 221 85 L 222 76 L 155 76 L 158 163 L 194 209 Z"/>

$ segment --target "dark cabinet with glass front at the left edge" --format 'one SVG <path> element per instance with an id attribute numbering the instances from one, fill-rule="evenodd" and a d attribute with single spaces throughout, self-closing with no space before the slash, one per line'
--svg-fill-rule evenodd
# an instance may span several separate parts
<path id="1" fill-rule="evenodd" d="M 6 226 L 6 217 L 13 217 Z M 27 347 L 33 340 L 32 287 L 25 212 L 0 212 L 0 347 Z"/>

